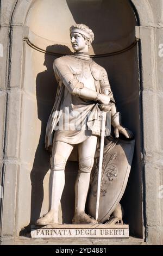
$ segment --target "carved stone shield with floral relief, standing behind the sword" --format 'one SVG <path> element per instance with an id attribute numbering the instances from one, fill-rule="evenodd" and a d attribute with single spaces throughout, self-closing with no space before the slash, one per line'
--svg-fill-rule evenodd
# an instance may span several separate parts
<path id="1" fill-rule="evenodd" d="M 135 141 L 120 140 L 114 148 L 103 156 L 101 194 L 99 200 L 98 222 L 109 220 L 126 189 Z M 91 173 L 90 190 L 87 197 L 87 211 L 96 216 L 98 162 L 95 160 Z"/>

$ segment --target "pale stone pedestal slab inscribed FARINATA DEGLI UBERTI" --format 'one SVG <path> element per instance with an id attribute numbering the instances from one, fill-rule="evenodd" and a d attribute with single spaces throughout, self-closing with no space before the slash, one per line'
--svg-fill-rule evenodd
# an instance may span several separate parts
<path id="1" fill-rule="evenodd" d="M 128 225 L 48 224 L 32 225 L 32 238 L 128 238 Z"/>

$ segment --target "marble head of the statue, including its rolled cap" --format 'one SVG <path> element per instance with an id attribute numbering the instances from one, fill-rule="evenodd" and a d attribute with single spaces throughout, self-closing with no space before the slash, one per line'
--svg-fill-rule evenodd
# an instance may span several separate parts
<path id="1" fill-rule="evenodd" d="M 94 40 L 94 34 L 86 25 L 76 24 L 70 28 L 70 38 L 74 51 L 88 51 Z"/>

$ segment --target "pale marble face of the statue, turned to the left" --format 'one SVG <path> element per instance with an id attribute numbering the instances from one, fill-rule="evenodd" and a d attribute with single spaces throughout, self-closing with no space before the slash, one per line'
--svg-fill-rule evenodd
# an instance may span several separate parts
<path id="1" fill-rule="evenodd" d="M 86 41 L 84 37 L 79 33 L 71 34 L 71 44 L 74 51 L 83 51 L 86 48 Z"/>

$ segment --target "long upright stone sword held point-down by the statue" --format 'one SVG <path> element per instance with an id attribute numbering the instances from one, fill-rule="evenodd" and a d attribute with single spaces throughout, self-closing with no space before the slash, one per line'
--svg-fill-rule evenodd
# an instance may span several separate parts
<path id="1" fill-rule="evenodd" d="M 103 153 L 104 153 L 106 113 L 110 111 L 111 107 L 109 105 L 100 104 L 99 108 L 102 111 L 102 113 L 101 113 L 101 118 L 102 119 L 101 119 L 101 142 L 100 142 L 99 166 L 98 166 L 96 221 L 98 220 L 98 212 L 99 212 L 99 198 L 100 198 L 102 164 L 103 164 Z"/>

